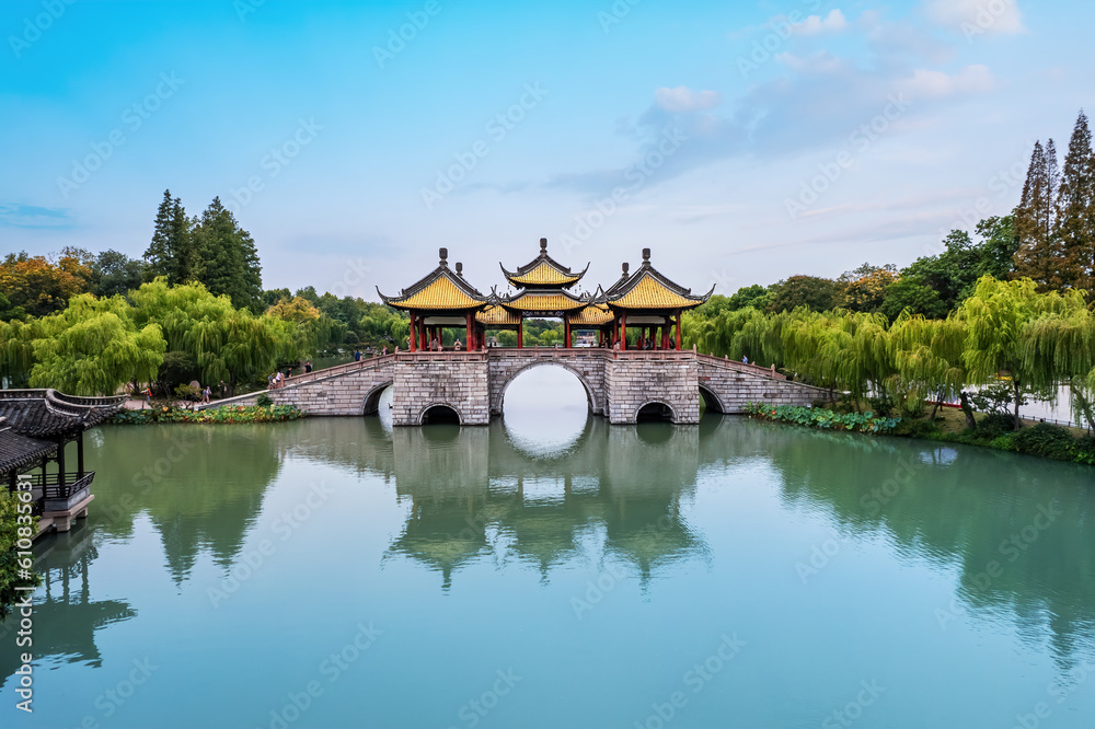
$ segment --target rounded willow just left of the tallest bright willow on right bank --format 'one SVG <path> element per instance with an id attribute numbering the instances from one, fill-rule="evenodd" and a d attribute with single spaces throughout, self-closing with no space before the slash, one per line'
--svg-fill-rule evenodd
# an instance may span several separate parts
<path id="1" fill-rule="evenodd" d="M 890 357 L 910 395 L 934 401 L 931 420 L 940 403 L 954 400 L 966 384 L 963 351 L 966 324 L 955 316 L 927 319 L 903 313 L 889 329 Z"/>

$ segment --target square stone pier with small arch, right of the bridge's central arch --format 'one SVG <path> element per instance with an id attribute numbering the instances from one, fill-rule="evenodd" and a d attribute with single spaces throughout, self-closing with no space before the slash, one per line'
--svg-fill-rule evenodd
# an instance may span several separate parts
<path id="1" fill-rule="evenodd" d="M 693 352 L 615 354 L 604 364 L 609 423 L 635 423 L 638 410 L 650 403 L 668 405 L 672 409 L 673 423 L 700 421 L 700 393 Z"/>

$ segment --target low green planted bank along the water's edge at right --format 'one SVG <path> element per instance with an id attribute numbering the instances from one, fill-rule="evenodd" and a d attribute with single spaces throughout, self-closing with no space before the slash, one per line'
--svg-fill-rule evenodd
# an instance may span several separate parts
<path id="1" fill-rule="evenodd" d="M 977 427 L 969 428 L 960 410 L 946 407 L 940 408 L 934 420 L 929 419 L 927 415 L 889 418 L 869 410 L 840 413 L 822 407 L 774 406 L 764 403 L 750 403 L 747 408 L 752 417 L 777 423 L 965 443 L 1056 461 L 1095 465 L 1095 436 L 1087 435 L 1079 428 L 1063 428 L 1048 423 L 1026 420 L 1022 428 L 1014 430 L 1012 427 L 1014 420 L 1008 415 L 978 413 L 975 414 Z"/>

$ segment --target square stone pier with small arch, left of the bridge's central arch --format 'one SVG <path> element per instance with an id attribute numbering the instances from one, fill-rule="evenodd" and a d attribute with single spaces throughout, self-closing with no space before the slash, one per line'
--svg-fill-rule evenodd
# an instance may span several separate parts
<path id="1" fill-rule="evenodd" d="M 461 425 L 487 425 L 491 398 L 486 352 L 406 352 L 396 357 L 392 424 L 422 425 L 435 405 L 457 412 Z"/>

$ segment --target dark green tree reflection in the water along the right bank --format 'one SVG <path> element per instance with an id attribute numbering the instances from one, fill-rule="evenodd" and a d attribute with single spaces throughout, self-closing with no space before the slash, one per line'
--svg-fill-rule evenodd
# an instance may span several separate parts
<path id="1" fill-rule="evenodd" d="M 727 450 L 762 444 L 783 476 L 788 504 L 821 507 L 852 533 L 885 531 L 907 556 L 957 565 L 957 598 L 971 613 L 1003 609 L 1021 629 L 1046 625 L 1059 657 L 1072 655 L 1076 639 L 1095 626 L 1095 491 L 1082 487 L 1092 482 L 1090 466 L 772 424 L 741 426 L 727 430 Z M 879 488 L 886 490 L 872 494 Z M 1058 516 L 1048 522 L 1046 512 Z M 1049 525 L 1039 531 L 1036 523 Z M 1022 548 L 1003 545 L 1013 534 Z M 988 575 L 993 562 L 998 577 Z"/>

